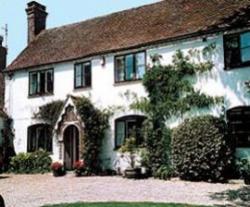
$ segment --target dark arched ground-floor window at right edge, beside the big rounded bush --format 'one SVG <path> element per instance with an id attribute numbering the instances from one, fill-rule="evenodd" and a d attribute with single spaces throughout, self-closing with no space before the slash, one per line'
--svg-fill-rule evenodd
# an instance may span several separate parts
<path id="1" fill-rule="evenodd" d="M 227 111 L 229 135 L 236 147 L 250 147 L 250 107 L 242 106 Z"/>

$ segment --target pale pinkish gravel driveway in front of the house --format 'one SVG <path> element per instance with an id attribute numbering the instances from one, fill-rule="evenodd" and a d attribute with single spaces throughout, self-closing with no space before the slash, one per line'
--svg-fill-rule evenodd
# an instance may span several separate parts
<path id="1" fill-rule="evenodd" d="M 6 177 L 5 177 L 6 176 Z M 240 184 L 191 183 L 177 180 L 127 180 L 121 177 L 1 175 L 6 207 L 36 207 L 78 201 L 149 201 L 228 205 L 211 195 L 242 188 Z"/>

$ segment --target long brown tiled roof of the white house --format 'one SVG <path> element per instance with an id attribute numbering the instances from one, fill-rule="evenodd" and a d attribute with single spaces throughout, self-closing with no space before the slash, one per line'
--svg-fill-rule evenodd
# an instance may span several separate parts
<path id="1" fill-rule="evenodd" d="M 250 0 L 163 0 L 43 31 L 8 70 L 63 62 L 241 26 Z M 244 13 L 244 12 L 243 12 Z M 249 17 L 249 10 L 245 12 Z M 247 18 L 247 23 L 248 22 Z"/>

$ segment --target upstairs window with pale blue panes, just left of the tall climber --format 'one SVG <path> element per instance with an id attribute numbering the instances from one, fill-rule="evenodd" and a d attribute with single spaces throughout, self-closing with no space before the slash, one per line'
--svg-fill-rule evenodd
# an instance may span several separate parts
<path id="1" fill-rule="evenodd" d="M 115 57 L 115 82 L 141 80 L 146 70 L 146 54 L 138 52 Z"/>

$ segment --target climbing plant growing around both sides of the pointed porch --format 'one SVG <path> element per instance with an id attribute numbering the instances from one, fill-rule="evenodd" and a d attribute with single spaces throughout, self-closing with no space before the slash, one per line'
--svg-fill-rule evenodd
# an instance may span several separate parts
<path id="1" fill-rule="evenodd" d="M 109 127 L 110 110 L 100 110 L 94 106 L 90 99 L 71 96 L 77 115 L 84 123 L 84 135 L 81 137 L 81 158 L 84 160 L 89 174 L 97 173 L 100 169 L 99 153 L 105 130 Z M 58 100 L 39 107 L 34 114 L 35 118 L 43 120 L 52 126 L 56 124 L 65 102 Z"/>

